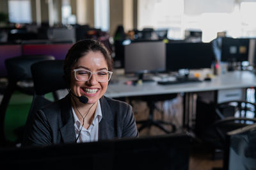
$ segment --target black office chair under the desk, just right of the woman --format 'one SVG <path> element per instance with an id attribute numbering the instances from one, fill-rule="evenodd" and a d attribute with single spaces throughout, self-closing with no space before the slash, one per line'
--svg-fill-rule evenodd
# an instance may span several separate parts
<path id="1" fill-rule="evenodd" d="M 163 132 L 165 132 L 166 134 L 175 132 L 176 126 L 172 122 L 154 119 L 154 112 L 157 110 L 156 102 L 170 100 L 175 97 L 177 97 L 176 94 L 173 94 L 173 95 L 150 95 L 150 96 L 145 96 L 145 97 L 131 97 L 130 100 L 142 100 L 144 102 L 147 102 L 147 107 L 149 108 L 148 119 L 136 121 L 136 123 L 140 125 L 140 127 L 138 128 L 139 132 L 141 130 L 143 130 L 144 128 L 150 128 L 152 126 L 163 130 Z M 169 130 L 169 128 L 164 127 L 164 125 L 171 127 L 170 130 Z"/>

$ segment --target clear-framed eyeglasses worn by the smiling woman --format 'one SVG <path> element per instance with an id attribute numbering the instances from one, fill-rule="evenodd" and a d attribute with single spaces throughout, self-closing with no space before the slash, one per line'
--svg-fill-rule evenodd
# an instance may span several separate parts
<path id="1" fill-rule="evenodd" d="M 75 77 L 77 81 L 89 81 L 94 74 L 98 82 L 108 82 L 113 73 L 105 70 L 95 73 L 85 69 L 74 69 L 73 71 L 75 72 Z"/>

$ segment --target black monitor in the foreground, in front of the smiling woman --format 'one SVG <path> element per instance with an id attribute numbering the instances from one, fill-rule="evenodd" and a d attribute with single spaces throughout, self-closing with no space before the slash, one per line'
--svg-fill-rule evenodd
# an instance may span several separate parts
<path id="1" fill-rule="evenodd" d="M 35 169 L 188 169 L 190 137 L 185 133 L 0 149 L 0 166 Z"/>

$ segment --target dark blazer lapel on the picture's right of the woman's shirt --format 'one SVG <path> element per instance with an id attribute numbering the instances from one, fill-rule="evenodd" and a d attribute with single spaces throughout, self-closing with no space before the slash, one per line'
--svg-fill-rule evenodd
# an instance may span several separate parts
<path id="1" fill-rule="evenodd" d="M 114 113 L 105 97 L 100 98 L 102 119 L 99 123 L 99 139 L 111 139 L 115 137 Z"/>

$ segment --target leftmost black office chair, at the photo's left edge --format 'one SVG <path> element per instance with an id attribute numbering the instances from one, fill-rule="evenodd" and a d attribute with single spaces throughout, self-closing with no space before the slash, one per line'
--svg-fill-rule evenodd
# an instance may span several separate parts
<path id="1" fill-rule="evenodd" d="M 33 82 L 30 72 L 30 66 L 33 63 L 43 60 L 52 60 L 53 56 L 33 55 L 33 56 L 18 56 L 5 60 L 6 71 L 8 74 L 8 86 L 4 90 L 3 99 L 0 105 L 0 144 L 6 146 L 10 144 L 4 133 L 4 119 L 6 109 L 10 102 L 10 98 L 14 91 L 20 91 L 26 95 L 33 95 Z M 32 83 L 31 83 L 32 82 Z M 19 137 L 18 137 L 19 141 Z"/>

